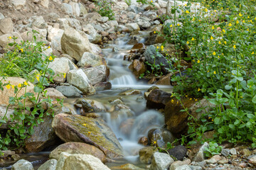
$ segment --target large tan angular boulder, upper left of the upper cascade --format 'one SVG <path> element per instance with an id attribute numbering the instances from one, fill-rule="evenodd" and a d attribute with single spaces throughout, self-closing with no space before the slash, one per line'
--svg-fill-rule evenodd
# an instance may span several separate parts
<path id="1" fill-rule="evenodd" d="M 92 52 L 89 40 L 80 35 L 74 28 L 68 28 L 64 31 L 60 43 L 63 52 L 77 61 L 81 59 L 84 52 Z"/>

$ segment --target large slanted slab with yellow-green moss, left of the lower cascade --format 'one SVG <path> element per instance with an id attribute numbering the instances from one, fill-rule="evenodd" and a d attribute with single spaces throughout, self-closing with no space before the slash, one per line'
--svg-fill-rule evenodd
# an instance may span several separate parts
<path id="1" fill-rule="evenodd" d="M 110 159 L 122 157 L 117 137 L 100 118 L 60 113 L 55 115 L 52 127 L 64 142 L 85 142 L 101 149 Z"/>

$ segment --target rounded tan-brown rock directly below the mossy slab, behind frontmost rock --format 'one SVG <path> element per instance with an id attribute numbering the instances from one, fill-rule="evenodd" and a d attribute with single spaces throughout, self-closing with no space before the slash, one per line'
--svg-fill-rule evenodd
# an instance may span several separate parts
<path id="1" fill-rule="evenodd" d="M 59 145 L 50 152 L 50 159 L 59 159 L 61 152 L 67 152 L 68 154 L 90 154 L 100 159 L 101 162 L 106 162 L 106 156 L 100 149 L 82 142 L 67 142 Z"/>

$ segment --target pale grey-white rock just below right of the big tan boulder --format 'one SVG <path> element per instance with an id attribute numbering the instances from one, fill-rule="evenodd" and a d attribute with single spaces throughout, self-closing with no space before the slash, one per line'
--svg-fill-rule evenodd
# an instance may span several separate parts
<path id="1" fill-rule="evenodd" d="M 96 67 L 100 65 L 106 65 L 106 61 L 99 55 L 94 55 L 90 52 L 84 52 L 81 59 L 78 62 L 78 67 Z"/>

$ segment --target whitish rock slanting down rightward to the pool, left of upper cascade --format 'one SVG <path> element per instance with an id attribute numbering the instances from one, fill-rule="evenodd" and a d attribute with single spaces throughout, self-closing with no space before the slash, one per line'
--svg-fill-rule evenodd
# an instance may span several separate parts
<path id="1" fill-rule="evenodd" d="M 87 78 L 85 72 L 82 72 L 82 69 L 70 70 L 67 75 L 67 81 L 86 95 L 95 94 L 95 89 L 90 84 L 90 80 Z"/>

